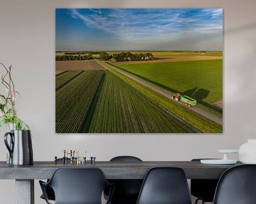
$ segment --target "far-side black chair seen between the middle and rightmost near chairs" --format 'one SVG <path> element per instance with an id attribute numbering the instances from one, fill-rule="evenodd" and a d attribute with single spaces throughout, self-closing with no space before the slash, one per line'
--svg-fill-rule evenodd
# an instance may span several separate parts
<path id="1" fill-rule="evenodd" d="M 192 162 L 200 162 L 201 159 L 192 159 Z M 213 202 L 214 193 L 218 184 L 218 179 L 191 179 L 191 195 L 196 197 L 195 204 L 199 200 L 202 203 Z"/>

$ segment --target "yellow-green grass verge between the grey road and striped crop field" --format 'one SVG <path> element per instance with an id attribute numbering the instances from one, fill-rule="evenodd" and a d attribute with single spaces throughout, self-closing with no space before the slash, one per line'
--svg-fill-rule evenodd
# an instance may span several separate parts
<path id="1" fill-rule="evenodd" d="M 116 72 L 112 69 L 109 70 L 114 75 L 119 77 L 120 79 L 126 81 L 127 84 L 132 86 L 134 89 L 142 93 L 144 96 L 151 98 L 151 101 L 159 104 L 162 108 L 166 109 L 167 111 L 173 113 L 181 120 L 185 121 L 186 123 L 192 125 L 197 130 L 204 132 L 204 133 L 221 133 L 223 132 L 222 125 L 209 120 L 208 118 L 199 115 L 191 111 L 189 108 L 179 105 L 175 101 L 161 96 L 161 94 L 156 93 L 155 91 L 142 86 L 141 84 L 137 83 L 136 81 L 125 77 L 124 75 Z"/>

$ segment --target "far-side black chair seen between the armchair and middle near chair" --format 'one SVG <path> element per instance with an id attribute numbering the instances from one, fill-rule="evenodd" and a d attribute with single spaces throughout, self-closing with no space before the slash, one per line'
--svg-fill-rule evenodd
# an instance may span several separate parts
<path id="1" fill-rule="evenodd" d="M 118 156 L 110 159 L 110 162 L 142 162 L 142 159 L 133 156 Z M 111 204 L 135 204 L 142 187 L 142 179 L 112 179 L 114 183 L 114 193 Z M 109 195 L 109 189 L 105 190 L 105 198 Z"/>

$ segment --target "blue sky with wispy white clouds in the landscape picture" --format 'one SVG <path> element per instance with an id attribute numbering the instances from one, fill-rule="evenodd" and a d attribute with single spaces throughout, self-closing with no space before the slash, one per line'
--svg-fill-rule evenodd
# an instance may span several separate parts
<path id="1" fill-rule="evenodd" d="M 56 51 L 223 50 L 222 8 L 56 8 Z"/>

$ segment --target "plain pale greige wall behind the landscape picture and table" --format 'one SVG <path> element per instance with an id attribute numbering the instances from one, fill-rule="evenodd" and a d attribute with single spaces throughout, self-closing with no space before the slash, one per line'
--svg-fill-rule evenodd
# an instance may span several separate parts
<path id="1" fill-rule="evenodd" d="M 218 149 L 237 149 L 256 138 L 255 6 L 255 0 L 1 0 L 0 62 L 13 65 L 18 114 L 33 132 L 34 160 L 53 160 L 62 149 L 87 150 L 97 160 L 117 154 L 143 160 L 221 157 Z M 55 8 L 224 8 L 224 133 L 56 135 Z M 0 131 L 4 137 L 5 128 Z M 3 137 L 0 160 L 6 159 Z M 35 184 L 36 203 L 43 203 Z M 14 192 L 14 181 L 0 181 L 1 203 L 15 203 Z"/>

